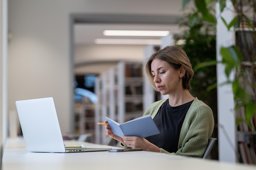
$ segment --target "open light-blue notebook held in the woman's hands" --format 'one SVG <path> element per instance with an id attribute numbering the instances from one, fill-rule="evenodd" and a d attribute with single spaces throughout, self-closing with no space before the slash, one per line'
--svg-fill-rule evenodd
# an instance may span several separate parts
<path id="1" fill-rule="evenodd" d="M 150 115 L 141 116 L 136 119 L 126 121 L 123 124 L 119 124 L 108 117 L 106 117 L 106 120 L 108 121 L 112 132 L 119 137 L 148 137 L 160 133 Z"/>

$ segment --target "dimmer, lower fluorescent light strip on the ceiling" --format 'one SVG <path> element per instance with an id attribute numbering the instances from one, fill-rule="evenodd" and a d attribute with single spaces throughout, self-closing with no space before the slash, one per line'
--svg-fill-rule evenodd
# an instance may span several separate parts
<path id="1" fill-rule="evenodd" d="M 153 39 L 95 39 L 95 44 L 160 45 L 161 40 Z"/>

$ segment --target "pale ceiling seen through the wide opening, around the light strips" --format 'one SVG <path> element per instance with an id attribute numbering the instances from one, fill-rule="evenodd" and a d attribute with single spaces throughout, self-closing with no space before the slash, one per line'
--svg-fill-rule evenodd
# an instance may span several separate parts
<path id="1" fill-rule="evenodd" d="M 178 24 L 177 20 L 182 18 L 182 13 L 173 14 L 173 15 L 141 15 L 141 14 L 77 14 L 71 16 L 72 21 L 72 33 L 74 46 L 82 46 L 83 49 L 87 49 L 87 51 L 94 51 L 96 54 L 83 54 L 83 58 L 81 56 L 78 57 L 74 55 L 75 62 L 75 73 L 76 74 L 90 74 L 96 73 L 100 74 L 109 70 L 110 67 L 115 66 L 119 60 L 131 60 L 129 55 L 127 57 L 122 56 L 122 59 L 114 59 L 106 57 L 109 55 L 111 49 L 113 51 L 117 51 L 120 49 L 120 45 L 117 48 L 117 44 L 112 45 L 103 45 L 107 46 L 106 49 L 102 48 L 102 45 L 94 43 L 94 40 L 97 38 L 115 38 L 115 39 L 158 39 L 160 40 L 162 37 L 127 37 L 127 36 L 105 36 L 103 35 L 104 30 L 146 30 L 146 31 L 170 31 L 171 33 L 179 33 L 182 31 Z M 155 44 L 153 44 L 155 45 Z M 134 47 L 131 45 L 123 45 L 127 46 L 123 51 L 131 50 L 134 51 Z M 146 45 L 133 45 L 135 48 L 140 48 L 140 51 L 144 51 L 144 46 Z M 127 49 L 128 48 L 128 49 Z M 105 51 L 103 60 L 101 62 L 94 57 L 98 56 L 97 51 Z M 108 51 L 108 52 L 106 52 Z M 122 53 L 122 52 L 120 52 Z M 106 56 L 105 56 L 106 55 Z M 128 55 L 128 54 L 127 54 Z M 133 55 L 135 56 L 135 55 Z M 108 59 L 106 59 L 108 58 Z M 137 58 L 139 59 L 139 58 Z M 143 59 L 142 59 L 143 60 Z"/>

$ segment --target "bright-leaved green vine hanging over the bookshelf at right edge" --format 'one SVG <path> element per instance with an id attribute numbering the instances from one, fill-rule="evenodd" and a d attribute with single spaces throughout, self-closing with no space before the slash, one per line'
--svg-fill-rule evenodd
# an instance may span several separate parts
<path id="1" fill-rule="evenodd" d="M 190 0 L 183 0 L 183 8 L 189 4 Z M 245 122 L 255 131 L 252 119 L 256 113 L 256 0 L 230 0 L 234 10 L 234 18 L 230 23 L 222 18 L 221 13 L 227 7 L 226 0 L 193 0 L 196 11 L 192 14 L 191 24 L 200 17 L 205 23 L 216 24 L 215 10 L 216 2 L 219 4 L 220 17 L 228 30 L 233 29 L 236 34 L 236 44 L 229 47 L 222 47 L 220 54 L 221 61 L 204 62 L 197 65 L 196 69 L 222 63 L 225 66 L 227 81 L 225 84 L 232 84 L 235 110 L 244 108 L 245 117 L 237 117 L 236 124 Z M 230 77 L 234 71 L 235 77 Z M 245 76 L 246 75 L 246 76 Z M 211 86 L 213 89 L 215 86 Z"/>

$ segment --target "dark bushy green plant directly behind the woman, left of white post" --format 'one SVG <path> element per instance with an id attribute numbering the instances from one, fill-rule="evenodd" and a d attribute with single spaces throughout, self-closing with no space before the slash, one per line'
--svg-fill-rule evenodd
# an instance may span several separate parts
<path id="1" fill-rule="evenodd" d="M 216 59 L 216 34 L 213 23 L 205 24 L 202 16 L 199 16 L 197 20 L 193 20 L 193 17 L 193 13 L 190 12 L 179 19 L 178 23 L 183 31 L 181 34 L 175 35 L 174 38 L 176 43 L 180 40 L 186 42 L 179 46 L 186 51 L 192 66 L 197 66 L 202 62 L 210 62 Z M 192 20 L 193 23 L 191 23 Z M 192 89 L 190 92 L 211 107 L 217 125 L 217 89 L 206 90 L 209 86 L 216 84 L 216 66 L 201 67 L 196 71 L 193 68 L 193 70 L 194 75 L 191 80 Z M 212 136 L 218 137 L 218 126 L 215 126 Z M 218 159 L 217 147 L 213 148 L 211 158 Z"/>

